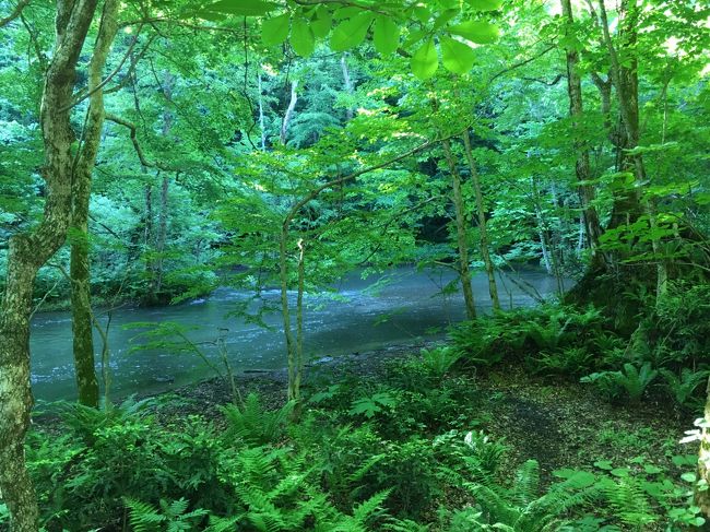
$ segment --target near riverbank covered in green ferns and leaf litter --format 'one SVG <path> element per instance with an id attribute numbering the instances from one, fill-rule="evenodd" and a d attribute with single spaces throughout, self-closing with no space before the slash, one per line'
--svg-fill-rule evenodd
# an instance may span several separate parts
<path id="1" fill-rule="evenodd" d="M 442 342 L 321 358 L 297 419 L 284 370 L 236 383 L 240 407 L 209 379 L 39 419 L 28 461 L 43 511 L 106 531 L 180 500 L 169 519 L 185 515 L 185 530 L 468 532 L 543 512 L 566 530 L 661 531 L 695 519 L 681 476 L 697 449 L 678 444 L 693 416 L 653 391 L 612 404 L 520 359 L 474 366 Z"/>

